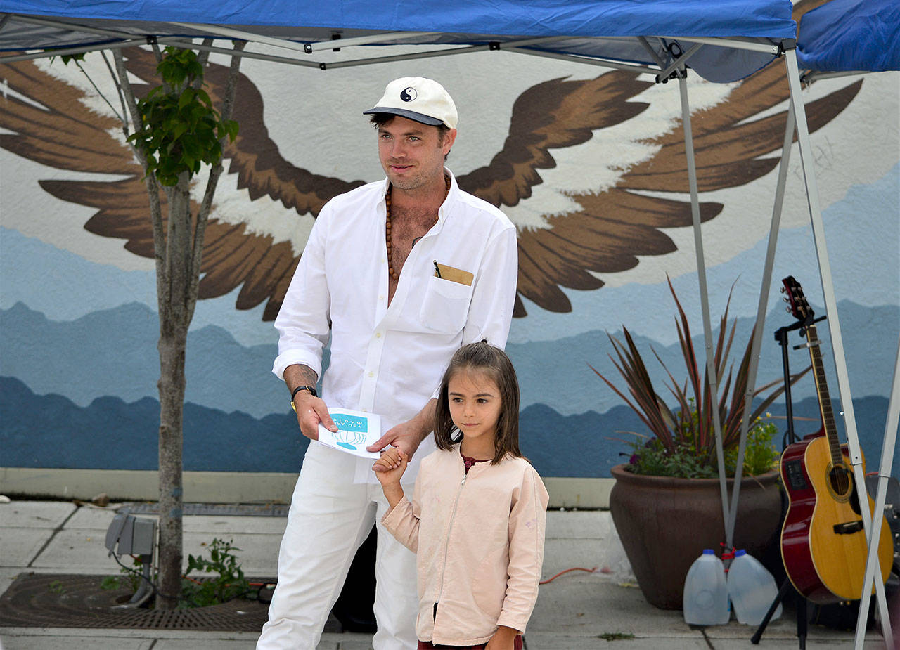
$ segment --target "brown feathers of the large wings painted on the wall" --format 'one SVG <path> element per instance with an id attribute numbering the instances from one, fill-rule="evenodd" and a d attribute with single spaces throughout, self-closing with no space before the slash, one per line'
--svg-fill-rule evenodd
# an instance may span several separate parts
<path id="1" fill-rule="evenodd" d="M 127 51 L 130 73 L 149 82 L 155 61 L 141 50 Z M 210 94 L 217 100 L 226 68 L 211 64 Z M 788 99 L 782 67 L 770 66 L 736 85 L 725 102 L 692 117 L 700 191 L 730 188 L 767 174 L 777 165 L 785 112 L 771 109 Z M 95 209 L 85 228 L 101 236 L 126 240 L 133 254 L 153 257 L 147 195 L 142 171 L 130 148 L 114 133 L 118 120 L 91 111 L 85 94 L 30 62 L 4 66 L 6 84 L 15 94 L 0 102 L 0 147 L 59 169 L 114 174 L 116 180 L 44 180 L 40 187 L 61 200 Z M 819 129 L 839 114 L 862 82 L 846 85 L 807 104 L 810 129 Z M 630 120 L 649 104 L 641 93 L 652 84 L 632 73 L 607 72 L 593 79 L 556 78 L 533 85 L 518 96 L 509 135 L 490 164 L 458 176 L 460 187 L 494 205 L 516 206 L 543 183 L 540 170 L 556 165 L 553 151 L 602 138 L 602 129 Z M 137 85 L 145 93 L 147 85 Z M 281 155 L 263 119 L 263 99 L 247 76 L 241 76 L 234 117 L 236 141 L 225 153 L 227 173 L 237 174 L 238 189 L 250 200 L 267 196 L 298 216 L 319 213 L 332 196 L 362 184 L 315 174 Z M 655 153 L 622 169 L 605 191 L 569 194 L 576 209 L 544 215 L 544 227 L 518 227 L 519 279 L 515 316 L 526 316 L 522 298 L 554 311 L 572 310 L 563 289 L 599 289 L 597 274 L 622 272 L 643 255 L 676 250 L 666 228 L 691 223 L 687 169 L 679 126 L 644 144 Z M 671 198 L 654 194 L 666 193 Z M 165 201 L 165 199 L 163 199 Z M 701 218 L 715 218 L 722 205 L 701 203 Z M 247 210 L 252 212 L 252 210 Z M 234 223 L 212 211 L 206 231 L 200 298 L 215 298 L 238 289 L 236 307 L 266 303 L 264 320 L 275 318 L 301 251 L 249 223 Z"/>

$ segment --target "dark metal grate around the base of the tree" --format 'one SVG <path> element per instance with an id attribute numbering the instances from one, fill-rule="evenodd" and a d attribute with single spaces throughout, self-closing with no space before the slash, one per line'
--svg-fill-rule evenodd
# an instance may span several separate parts
<path id="1" fill-rule="evenodd" d="M 191 610 L 114 609 L 130 593 L 101 589 L 103 577 L 20 574 L 0 596 L 0 627 L 258 632 L 266 622 L 268 606 L 244 599 Z"/>

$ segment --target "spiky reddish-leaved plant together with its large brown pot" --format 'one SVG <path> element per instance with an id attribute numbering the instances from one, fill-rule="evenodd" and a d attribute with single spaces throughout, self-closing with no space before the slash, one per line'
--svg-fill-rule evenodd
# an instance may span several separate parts
<path id="1" fill-rule="evenodd" d="M 644 598 L 662 609 L 681 609 L 684 580 L 691 563 L 704 548 L 719 549 L 725 541 L 722 495 L 718 479 L 714 409 L 721 423 L 725 476 L 734 476 L 737 447 L 747 395 L 752 334 L 734 370 L 728 357 L 736 320 L 728 328 L 729 293 L 719 323 L 714 367 L 716 395 L 707 376 L 705 358 L 698 360 L 688 318 L 675 289 L 669 289 L 678 308 L 676 326 L 686 377 L 679 381 L 652 350 L 668 376 L 667 387 L 677 405 L 671 409 L 656 391 L 641 352 L 623 327 L 624 343 L 612 335 L 615 357 L 610 355 L 626 389 L 591 367 L 599 378 L 638 414 L 648 434 L 635 433 L 629 462 L 612 468 L 616 478 L 609 508 L 628 560 Z M 792 383 L 806 371 L 791 378 Z M 628 395 L 626 395 L 627 391 Z M 778 452 L 771 443 L 776 427 L 761 415 L 784 390 L 780 381 L 754 388 L 752 395 L 767 396 L 752 407 L 734 543 L 759 557 L 778 540 L 781 516 L 779 474 L 774 469 Z M 728 478 L 732 494 L 734 478 Z"/>

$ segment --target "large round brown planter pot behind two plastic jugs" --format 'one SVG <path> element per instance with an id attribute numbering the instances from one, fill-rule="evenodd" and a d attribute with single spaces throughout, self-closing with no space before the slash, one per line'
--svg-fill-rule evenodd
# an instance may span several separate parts
<path id="1" fill-rule="evenodd" d="M 684 580 L 704 548 L 721 551 L 725 541 L 722 497 L 717 478 L 671 478 L 612 468 L 616 479 L 609 510 L 637 583 L 648 602 L 680 610 Z M 779 539 L 779 473 L 748 476 L 741 482 L 734 546 L 754 557 Z M 728 479 L 729 498 L 734 479 Z"/>

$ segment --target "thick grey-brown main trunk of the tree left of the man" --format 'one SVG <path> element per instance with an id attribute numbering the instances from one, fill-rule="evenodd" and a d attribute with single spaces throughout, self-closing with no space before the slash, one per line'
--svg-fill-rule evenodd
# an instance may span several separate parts
<path id="1" fill-rule="evenodd" d="M 174 609 L 181 592 L 182 414 L 184 351 L 193 316 L 189 304 L 193 265 L 193 219 L 187 174 L 169 192 L 166 274 L 159 304 L 159 598 L 157 607 Z"/>

